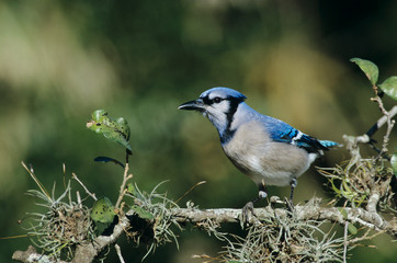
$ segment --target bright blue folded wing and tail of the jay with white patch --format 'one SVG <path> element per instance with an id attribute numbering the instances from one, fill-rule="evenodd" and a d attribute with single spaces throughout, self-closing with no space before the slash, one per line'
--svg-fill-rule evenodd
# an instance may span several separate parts
<path id="1" fill-rule="evenodd" d="M 328 150 L 329 147 L 338 145 L 330 140 L 318 140 L 280 119 L 270 116 L 264 117 L 266 130 L 274 141 L 295 145 L 308 152 L 321 152 L 321 150 Z"/>

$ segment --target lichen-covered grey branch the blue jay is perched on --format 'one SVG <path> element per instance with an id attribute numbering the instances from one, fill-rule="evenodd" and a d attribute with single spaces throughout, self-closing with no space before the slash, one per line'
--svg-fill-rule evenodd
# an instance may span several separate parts
<path id="1" fill-rule="evenodd" d="M 342 213 L 344 210 L 344 213 Z M 271 205 L 263 208 L 256 208 L 256 217 L 251 217 L 250 224 L 258 224 L 271 216 L 285 217 L 288 211 L 284 208 L 272 208 Z M 107 245 L 116 242 L 120 236 L 129 229 L 129 217 L 136 215 L 134 210 L 127 211 L 120 217 L 118 224 L 115 225 L 111 236 L 100 236 L 88 244 L 79 244 L 76 250 L 72 263 L 93 262 L 94 258 L 103 251 Z M 219 209 L 196 209 L 196 208 L 171 208 L 171 217 L 178 222 L 191 222 L 197 225 L 200 222 L 213 221 L 222 222 L 241 222 L 241 209 L 219 208 Z M 371 228 L 378 232 L 386 232 L 393 237 L 397 237 L 397 221 L 394 217 L 392 220 L 385 220 L 376 211 L 368 211 L 364 208 L 338 208 L 338 207 L 320 207 L 319 199 L 314 197 L 306 205 L 297 205 L 294 207 L 294 216 L 298 220 L 329 220 L 331 222 L 345 226 L 345 222 L 359 224 L 363 227 Z M 30 247 L 26 251 L 14 252 L 12 259 L 20 262 L 32 262 L 27 259 L 36 255 L 37 252 Z M 39 255 L 39 254 L 38 254 Z M 36 258 L 37 259 L 37 258 Z"/>

